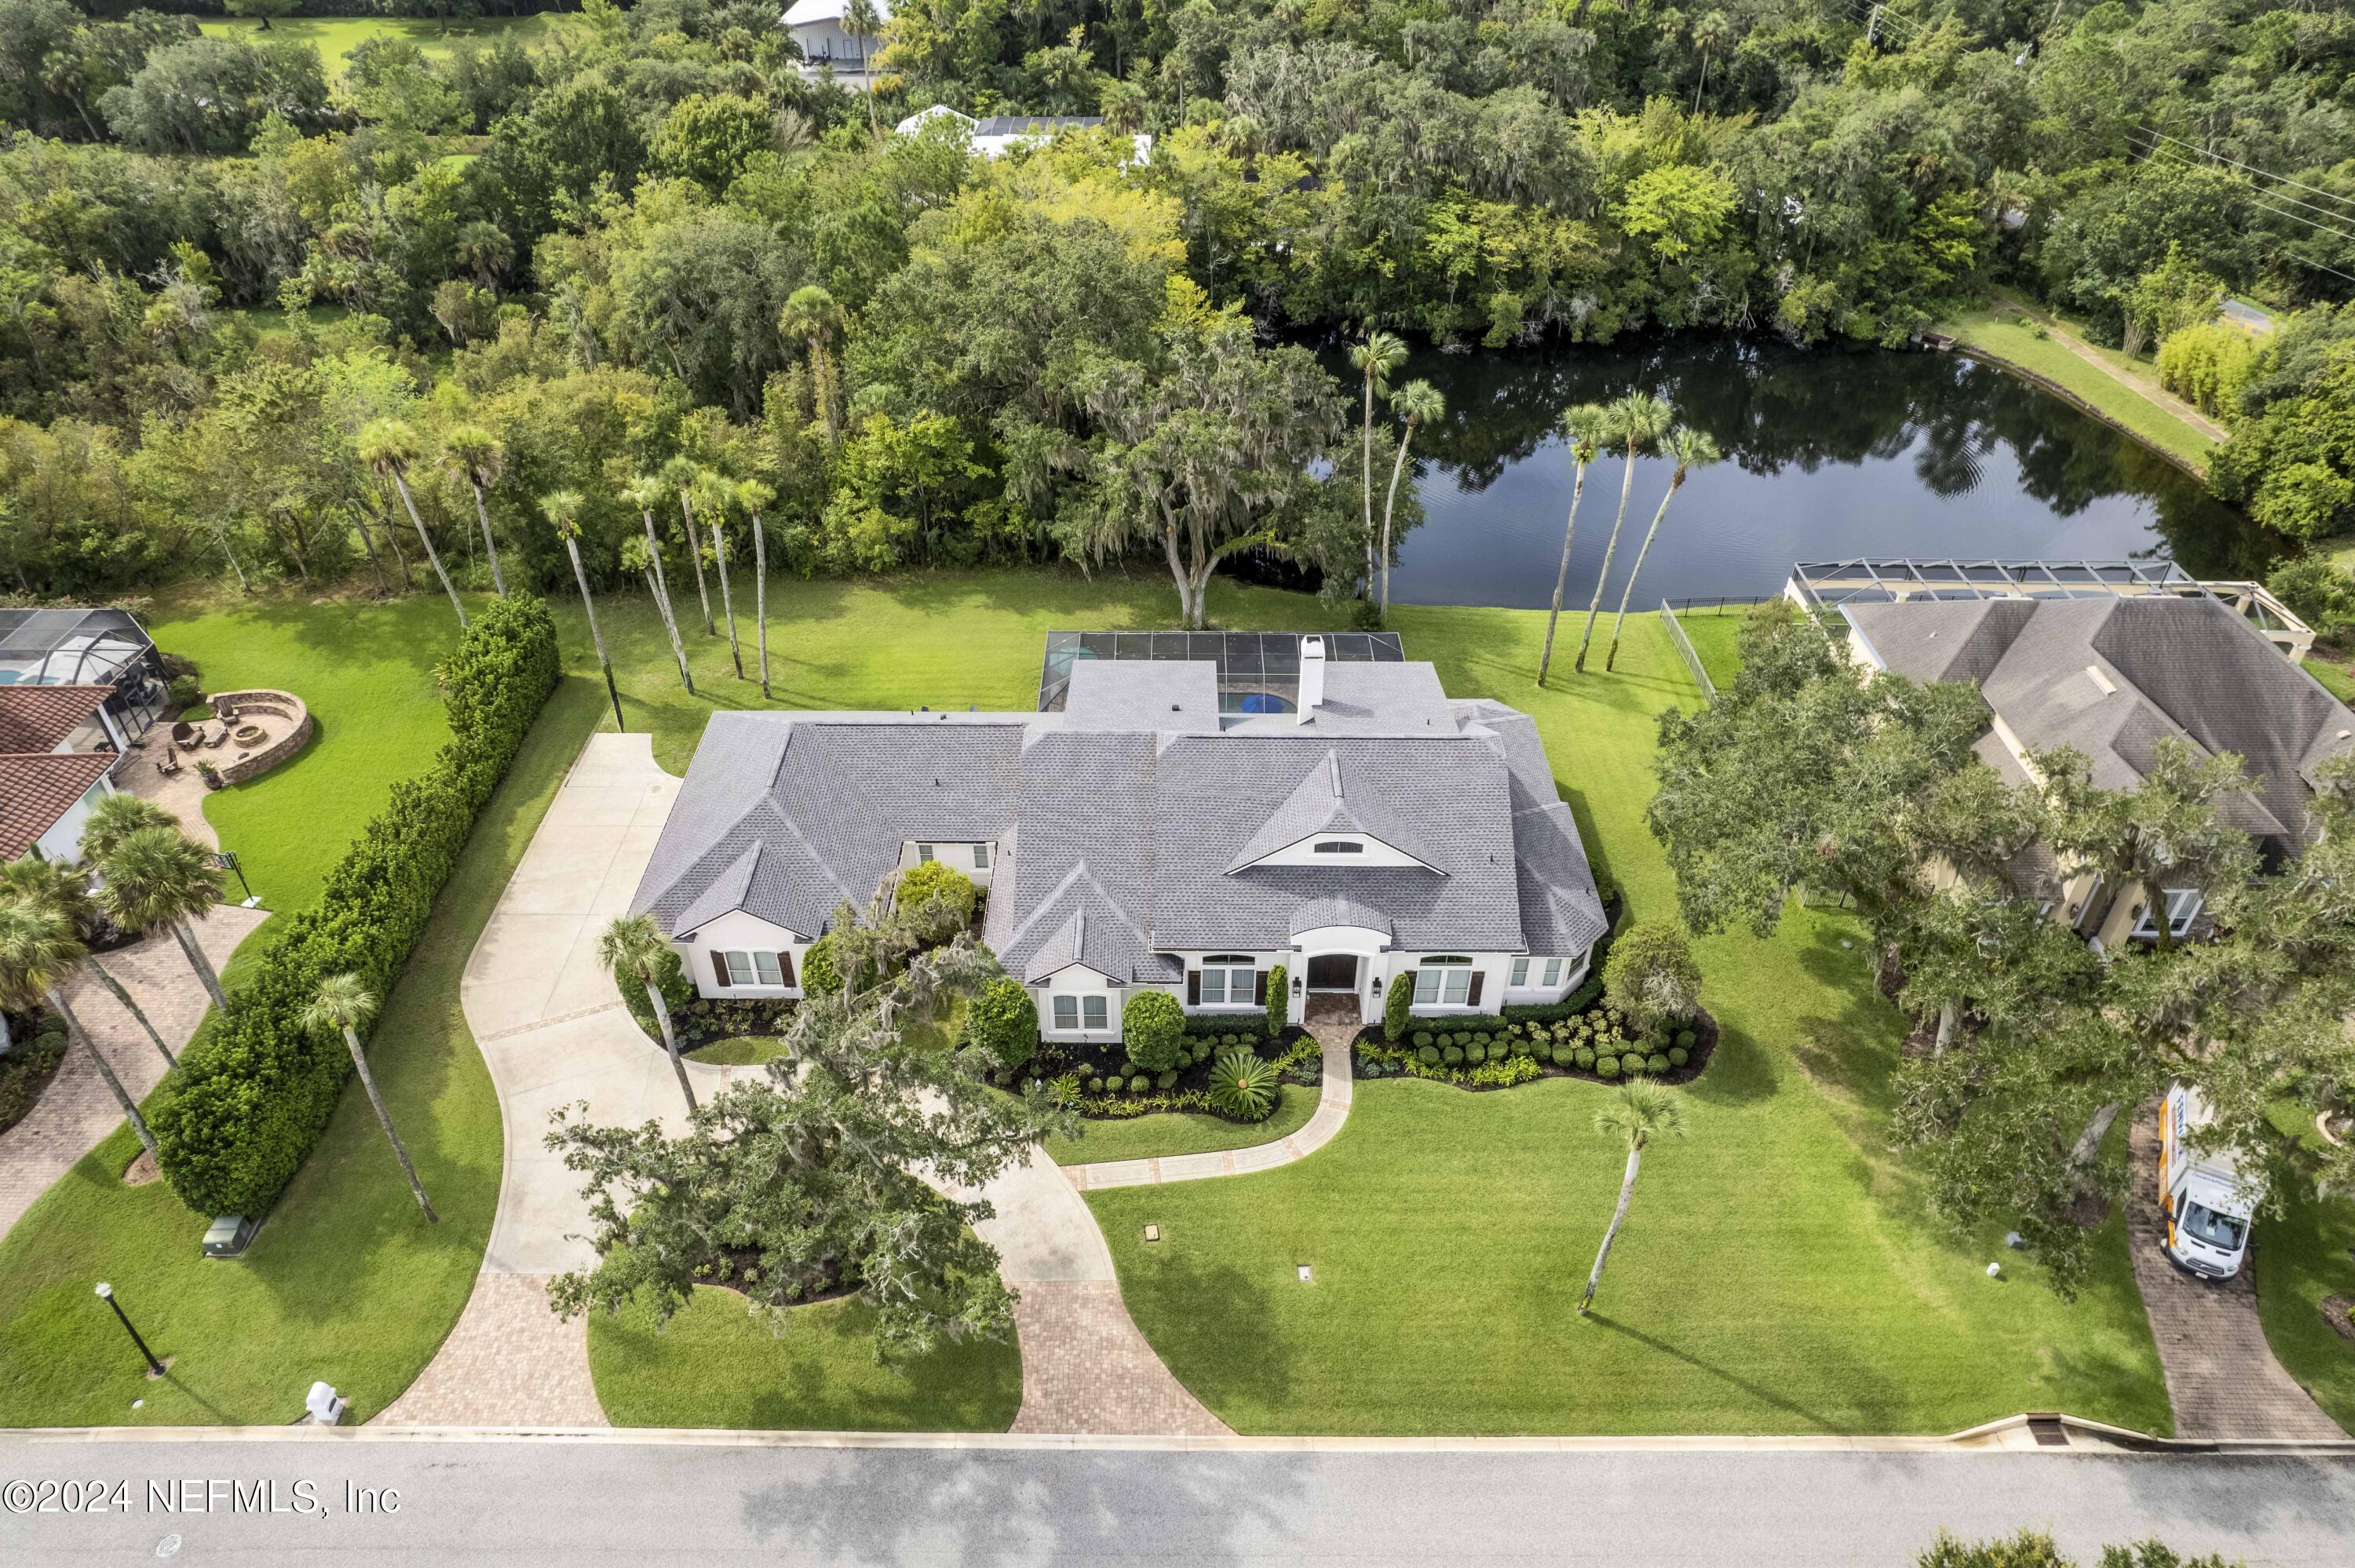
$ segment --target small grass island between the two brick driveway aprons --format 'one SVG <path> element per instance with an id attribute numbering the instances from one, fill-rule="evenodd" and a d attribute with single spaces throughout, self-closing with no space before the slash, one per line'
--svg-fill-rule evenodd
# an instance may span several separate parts
<path id="1" fill-rule="evenodd" d="M 1022 1408 L 1013 1340 L 878 1368 L 864 1302 L 796 1307 L 780 1335 L 714 1285 L 659 1333 L 641 1307 L 591 1314 L 589 1370 L 615 1427 L 1006 1431 Z"/>

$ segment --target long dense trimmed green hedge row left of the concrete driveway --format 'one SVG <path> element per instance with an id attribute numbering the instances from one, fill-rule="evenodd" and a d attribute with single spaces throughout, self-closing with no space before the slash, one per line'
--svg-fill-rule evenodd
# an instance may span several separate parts
<path id="1" fill-rule="evenodd" d="M 537 598 L 485 605 L 440 666 L 450 744 L 393 796 L 327 873 L 318 909 L 285 921 L 252 979 L 191 1045 L 148 1114 L 162 1175 L 200 1215 L 261 1215 L 327 1128 L 351 1076 L 341 1038 L 297 1024 L 318 982 L 353 972 L 384 996 L 542 704 L 556 624 Z"/>

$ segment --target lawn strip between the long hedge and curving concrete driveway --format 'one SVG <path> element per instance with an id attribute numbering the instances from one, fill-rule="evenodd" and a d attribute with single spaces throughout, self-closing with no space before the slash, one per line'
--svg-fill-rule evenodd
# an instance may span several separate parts
<path id="1" fill-rule="evenodd" d="M 400 612 L 386 622 L 403 624 Z M 393 652 L 379 659 L 407 666 Z M 198 1257 L 205 1220 L 162 1182 L 115 1180 L 139 1154 L 118 1128 L 0 1241 L 0 1427 L 290 1422 L 313 1377 L 341 1389 L 349 1420 L 363 1422 L 433 1358 L 473 1290 L 502 1165 L 499 1102 L 459 1012 L 459 975 L 601 699 L 577 673 L 549 699 L 370 1041 L 440 1224 L 417 1215 L 358 1088 L 238 1262 Z M 330 812 L 334 793 L 316 775 L 280 810 Z M 292 848 L 283 864 L 299 864 Z M 266 932 L 247 951 L 257 942 Z M 89 1293 L 101 1278 L 172 1358 L 167 1380 L 141 1375 Z M 146 1406 L 132 1410 L 134 1398 Z"/>

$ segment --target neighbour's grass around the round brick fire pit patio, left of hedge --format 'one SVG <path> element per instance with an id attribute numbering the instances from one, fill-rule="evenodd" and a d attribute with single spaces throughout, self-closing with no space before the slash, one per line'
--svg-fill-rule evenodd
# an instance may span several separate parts
<path id="1" fill-rule="evenodd" d="M 391 605 L 290 593 L 167 603 L 148 633 L 195 659 L 207 692 L 278 687 L 311 706 L 311 744 L 259 779 L 205 796 L 205 819 L 236 850 L 273 911 L 309 909 L 353 833 L 396 779 L 433 765 L 450 718 L 433 666 L 457 643 L 443 596 Z M 231 897 L 238 881 L 228 881 Z"/>

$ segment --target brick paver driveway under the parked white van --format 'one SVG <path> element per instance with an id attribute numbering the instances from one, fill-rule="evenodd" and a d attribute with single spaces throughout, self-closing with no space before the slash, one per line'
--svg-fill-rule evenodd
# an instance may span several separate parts
<path id="1" fill-rule="evenodd" d="M 2134 1187 L 2127 1194 L 2127 1245 L 2134 1283 L 2160 1342 L 2167 1398 L 2176 1408 L 2176 1436 L 2190 1439 L 2343 1439 L 2322 1408 L 2282 1370 L 2256 1318 L 2256 1283 L 2249 1269 L 2228 1281 L 2183 1274 L 2160 1250 L 2167 1220 L 2160 1215 L 2160 1125 L 2145 1107 L 2129 1142 Z M 2266 1245 L 2258 1222 L 2256 1245 Z"/>

